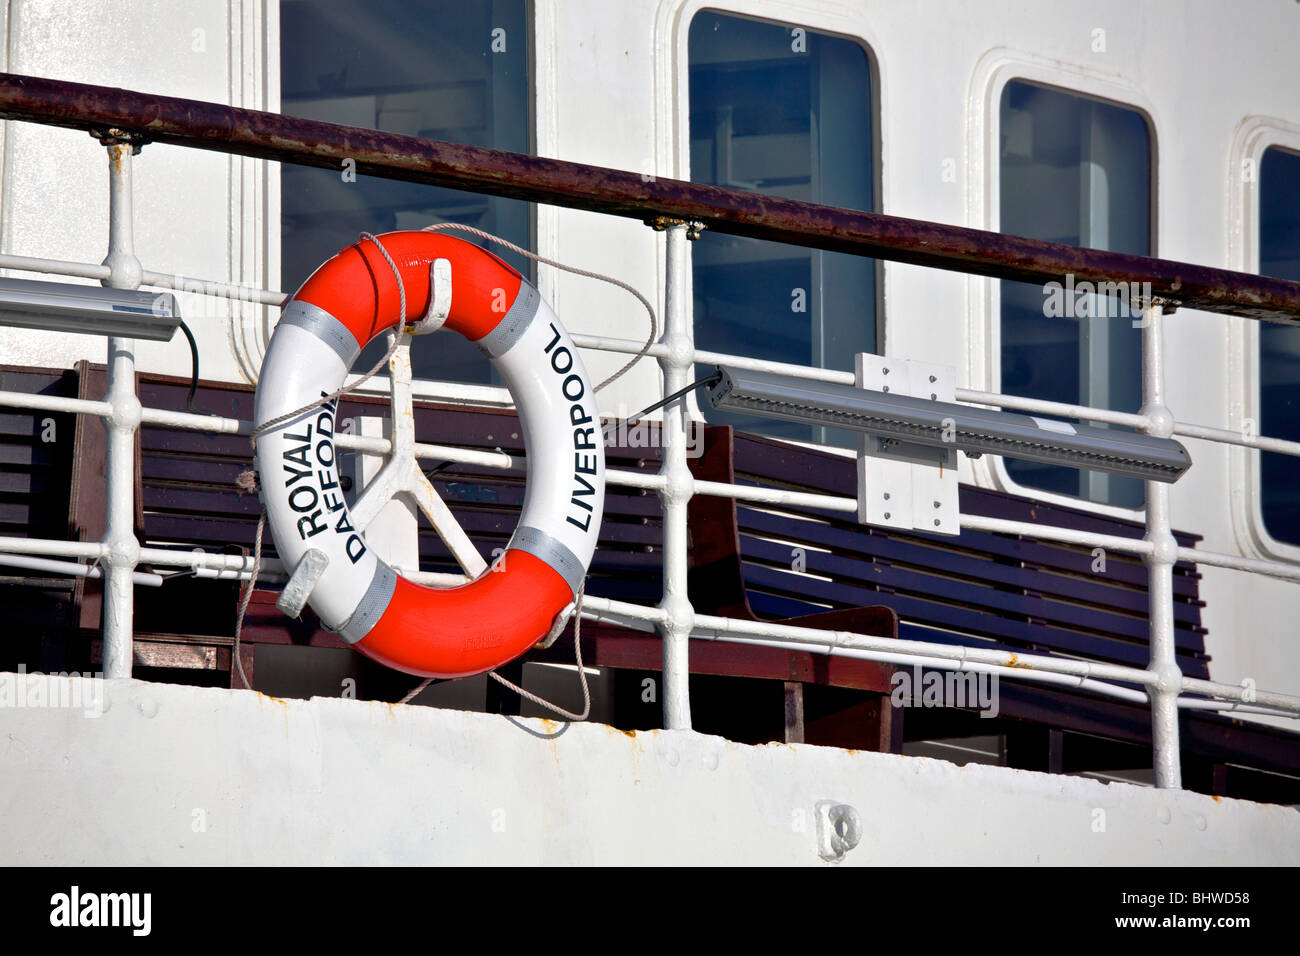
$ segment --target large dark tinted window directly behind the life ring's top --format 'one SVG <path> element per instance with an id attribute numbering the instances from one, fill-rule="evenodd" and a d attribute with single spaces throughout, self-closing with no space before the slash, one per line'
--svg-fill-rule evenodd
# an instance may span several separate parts
<path id="1" fill-rule="evenodd" d="M 524 0 L 282 0 L 281 109 L 291 116 L 469 146 L 530 152 Z M 281 261 L 296 289 L 358 233 L 456 221 L 525 248 L 526 203 L 343 170 L 281 168 Z M 493 251 L 525 276 L 528 260 Z M 376 342 L 358 368 L 384 355 Z M 421 378 L 490 382 L 491 367 L 451 332 L 415 339 Z"/>

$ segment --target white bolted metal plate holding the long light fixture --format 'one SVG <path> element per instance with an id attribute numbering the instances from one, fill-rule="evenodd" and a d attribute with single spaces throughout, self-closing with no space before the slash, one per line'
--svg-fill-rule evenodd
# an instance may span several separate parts
<path id="1" fill-rule="evenodd" d="M 949 365 L 859 352 L 858 388 L 956 401 L 957 372 Z M 957 447 L 936 449 L 875 434 L 858 436 L 858 520 L 904 531 L 959 535 Z"/>

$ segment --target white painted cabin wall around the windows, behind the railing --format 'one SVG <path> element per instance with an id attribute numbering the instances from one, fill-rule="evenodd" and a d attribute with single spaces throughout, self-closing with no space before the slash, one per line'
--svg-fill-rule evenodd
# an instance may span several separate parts
<path id="1" fill-rule="evenodd" d="M 1239 170 L 1242 151 L 1256 140 L 1240 133 L 1262 124 L 1300 144 L 1294 57 L 1300 27 L 1292 5 L 1270 0 L 939 0 L 926 4 L 924 16 L 910 0 L 536 0 L 537 152 L 684 177 L 686 27 L 706 5 L 840 33 L 870 48 L 879 88 L 880 209 L 888 213 L 996 228 L 991 105 L 1009 75 L 1106 95 L 1148 113 L 1162 258 L 1252 268 L 1249 196 Z M 9 0 L 0 17 L 0 60 L 10 72 L 278 107 L 274 0 Z M 1101 52 L 1097 30 L 1105 36 Z M 0 251 L 100 261 L 108 233 L 103 150 L 84 134 L 27 124 L 5 124 L 0 135 Z M 948 160 L 956 160 L 956 181 L 942 176 Z M 147 269 L 278 286 L 274 166 L 150 146 L 135 176 L 135 238 Z M 640 222 L 551 207 L 540 207 L 537 221 L 542 255 L 662 297 L 662 239 Z M 540 286 L 572 332 L 644 334 L 644 313 L 619 290 L 546 268 Z M 883 289 L 889 354 L 954 365 L 958 386 L 996 389 L 993 282 L 885 264 Z M 233 313 L 225 300 L 191 295 L 182 304 L 187 316 L 204 316 L 195 334 L 207 377 L 239 381 L 255 373 L 276 310 L 246 304 Z M 1238 428 L 1251 414 L 1243 352 L 1249 324 L 1183 311 L 1166 325 L 1175 415 Z M 5 363 L 69 365 L 79 358 L 101 362 L 103 339 L 0 330 Z M 144 345 L 139 358 L 143 371 L 188 371 L 179 338 Z M 599 380 L 620 360 L 592 354 L 589 364 Z M 425 392 L 445 394 L 437 384 Z M 646 362 L 602 393 L 602 407 L 633 410 L 656 394 L 658 372 Z M 1244 457 L 1195 440 L 1187 445 L 1196 464 L 1173 488 L 1174 527 L 1204 535 L 1208 549 L 1265 557 L 1245 490 L 1249 476 L 1232 464 Z M 963 480 L 1008 486 L 989 458 L 962 468 Z M 1212 676 L 1300 693 L 1297 587 L 1204 566 L 1201 572 Z"/>

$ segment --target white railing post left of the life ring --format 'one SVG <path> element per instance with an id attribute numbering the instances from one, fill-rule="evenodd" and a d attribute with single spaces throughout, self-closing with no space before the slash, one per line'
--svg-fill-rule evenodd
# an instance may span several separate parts
<path id="1" fill-rule="evenodd" d="M 130 137 L 109 130 L 100 137 L 108 150 L 108 258 L 110 289 L 138 289 L 142 268 L 131 235 L 131 156 L 139 150 Z M 134 572 L 140 544 L 135 540 L 135 429 L 140 399 L 135 393 L 135 339 L 108 339 L 108 392 L 112 414 L 108 431 L 104 506 L 104 676 L 131 676 L 135 617 Z"/>

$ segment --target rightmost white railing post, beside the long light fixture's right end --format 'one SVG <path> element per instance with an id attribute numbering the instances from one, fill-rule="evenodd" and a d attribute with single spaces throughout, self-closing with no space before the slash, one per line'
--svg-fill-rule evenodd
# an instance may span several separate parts
<path id="1" fill-rule="evenodd" d="M 1141 414 L 1147 418 L 1147 434 L 1162 438 L 1174 433 L 1174 415 L 1165 405 L 1166 307 L 1160 299 L 1152 299 L 1141 321 Z M 1183 687 L 1183 675 L 1178 669 L 1174 648 L 1174 563 L 1178 561 L 1178 541 L 1170 528 L 1169 485 L 1148 481 L 1147 541 L 1152 549 L 1144 555 L 1144 561 L 1149 581 L 1147 597 L 1150 620 L 1150 662 L 1147 669 L 1156 678 L 1149 688 L 1152 750 L 1156 786 L 1176 790 L 1183 786 L 1178 749 L 1178 695 Z"/>

